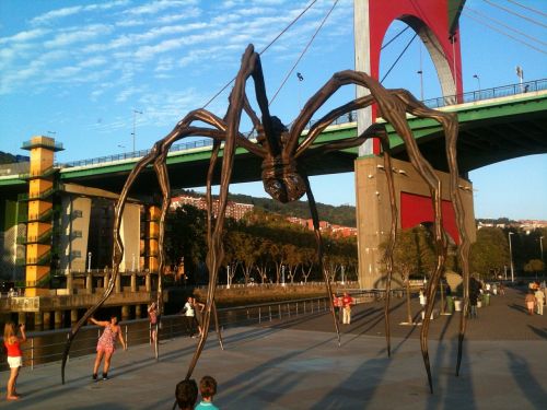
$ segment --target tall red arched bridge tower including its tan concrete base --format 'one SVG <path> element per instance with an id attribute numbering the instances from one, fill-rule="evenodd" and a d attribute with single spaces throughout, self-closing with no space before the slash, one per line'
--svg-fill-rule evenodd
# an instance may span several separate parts
<path id="1" fill-rule="evenodd" d="M 356 70 L 379 80 L 385 33 L 395 20 L 403 21 L 417 33 L 430 54 L 443 96 L 450 103 L 457 103 L 463 91 L 457 22 L 464 3 L 465 0 L 356 0 Z M 356 93 L 357 97 L 361 97 L 369 91 L 358 86 Z M 374 106 L 358 110 L 357 117 L 358 134 L 361 134 L 376 118 Z M 359 282 L 365 289 L 383 288 L 385 283 L 380 269 L 382 255 L 379 248 L 387 238 L 391 227 L 385 173 L 394 174 L 399 227 L 408 229 L 433 221 L 433 210 L 429 189 L 410 163 L 394 161 L 393 169 L 384 169 L 380 141 L 376 139 L 360 147 L 359 155 L 356 161 Z M 442 180 L 443 227 L 458 243 L 447 190 L 449 175 L 437 174 Z M 474 232 L 473 195 L 469 194 L 473 187 L 464 179 L 459 184 L 467 192 L 464 198 L 467 232 Z"/>

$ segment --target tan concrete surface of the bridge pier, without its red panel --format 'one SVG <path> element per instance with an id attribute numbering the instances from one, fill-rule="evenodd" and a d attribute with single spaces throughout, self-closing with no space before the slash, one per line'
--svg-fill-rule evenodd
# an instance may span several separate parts
<path id="1" fill-rule="evenodd" d="M 430 196 L 430 192 L 410 163 L 393 160 L 392 167 L 394 168 L 392 173 L 398 210 L 397 226 L 400 227 L 401 192 L 427 197 Z M 383 255 L 379 251 L 380 244 L 386 241 L 389 235 L 392 224 L 385 173 L 384 161 L 380 156 L 360 157 L 356 161 L 359 283 L 362 289 L 385 288 L 385 281 L 380 273 L 380 262 Z M 437 172 L 437 175 L 441 178 L 442 199 L 450 200 L 450 175 L 441 172 Z M 470 233 L 472 242 L 475 242 L 473 185 L 462 178 L 459 185 L 467 232 Z"/>

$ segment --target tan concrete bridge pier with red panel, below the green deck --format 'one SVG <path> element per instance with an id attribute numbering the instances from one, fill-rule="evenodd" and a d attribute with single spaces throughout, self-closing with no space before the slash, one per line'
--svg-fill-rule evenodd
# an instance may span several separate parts
<path id="1" fill-rule="evenodd" d="M 386 172 L 392 172 L 394 176 L 398 229 L 410 229 L 434 220 L 429 188 L 412 165 L 409 162 L 393 160 L 392 166 L 391 171 L 384 169 L 381 156 L 360 157 L 356 161 L 359 284 L 362 289 L 385 288 L 381 270 L 383 255 L 379 247 L 381 243 L 387 241 L 392 224 Z M 442 181 L 443 226 L 457 244 L 459 238 L 450 199 L 449 174 L 437 172 L 437 175 Z M 473 185 L 461 178 L 459 186 L 467 232 L 474 242 Z M 394 273 L 395 279 L 397 272 Z"/>

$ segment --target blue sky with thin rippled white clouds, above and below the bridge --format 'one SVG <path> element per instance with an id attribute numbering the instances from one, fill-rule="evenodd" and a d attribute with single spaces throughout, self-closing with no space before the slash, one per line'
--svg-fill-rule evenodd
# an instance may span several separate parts
<path id="1" fill-rule="evenodd" d="M 310 2 L 1 0 L 0 151 L 24 154 L 22 142 L 34 134 L 50 134 L 63 143 L 66 151 L 58 153 L 58 162 L 131 151 L 133 120 L 136 148 L 150 148 L 235 75 L 247 44 L 264 49 Z M 517 3 L 467 0 L 461 19 L 465 91 L 477 90 L 474 74 L 482 89 L 515 83 L 516 66 L 523 68 L 525 80 L 547 78 L 547 1 Z M 331 5 L 330 0 L 317 1 L 263 55 L 270 97 Z M 504 36 L 484 24 L 496 26 L 487 17 L 533 38 L 498 25 L 528 45 Z M 283 122 L 290 122 L 334 72 L 353 68 L 352 22 L 352 1 L 340 0 L 295 70 L 304 81 L 292 74 L 270 106 Z M 404 27 L 395 22 L 386 40 Z M 383 51 L 381 75 L 411 37 L 407 31 Z M 440 96 L 437 74 L 419 40 L 410 45 L 384 85 L 419 96 L 420 50 L 424 98 Z M 222 116 L 228 93 L 208 109 Z M 351 87 L 344 89 L 327 108 L 353 95 Z M 251 128 L 244 122 L 245 127 Z M 476 216 L 547 220 L 546 176 L 545 154 L 473 172 Z M 316 177 L 312 185 L 319 202 L 354 203 L 352 173 Z M 266 196 L 260 184 L 234 185 L 231 191 Z"/>

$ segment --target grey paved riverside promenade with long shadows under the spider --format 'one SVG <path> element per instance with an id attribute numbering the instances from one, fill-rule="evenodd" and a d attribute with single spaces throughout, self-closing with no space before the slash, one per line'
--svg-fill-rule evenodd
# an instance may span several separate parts
<path id="1" fill-rule="evenodd" d="M 547 406 L 547 316 L 527 316 L 523 294 L 492 297 L 469 321 L 462 374 L 454 376 L 457 317 L 431 327 L 434 394 L 419 350 L 420 327 L 400 326 L 404 300 L 394 301 L 392 358 L 386 356 L 380 304 L 360 305 L 342 328 L 341 347 L 328 315 L 224 332 L 225 350 L 210 336 L 195 377 L 219 382 L 221 409 L 544 409 Z M 418 305 L 412 302 L 417 312 Z M 72 360 L 67 384 L 60 365 L 23 368 L 10 409 L 171 409 L 196 339 L 163 341 L 155 362 L 149 345 L 118 350 L 112 378 L 93 383 L 93 356 Z M 8 373 L 1 373 L 5 395 Z"/>

